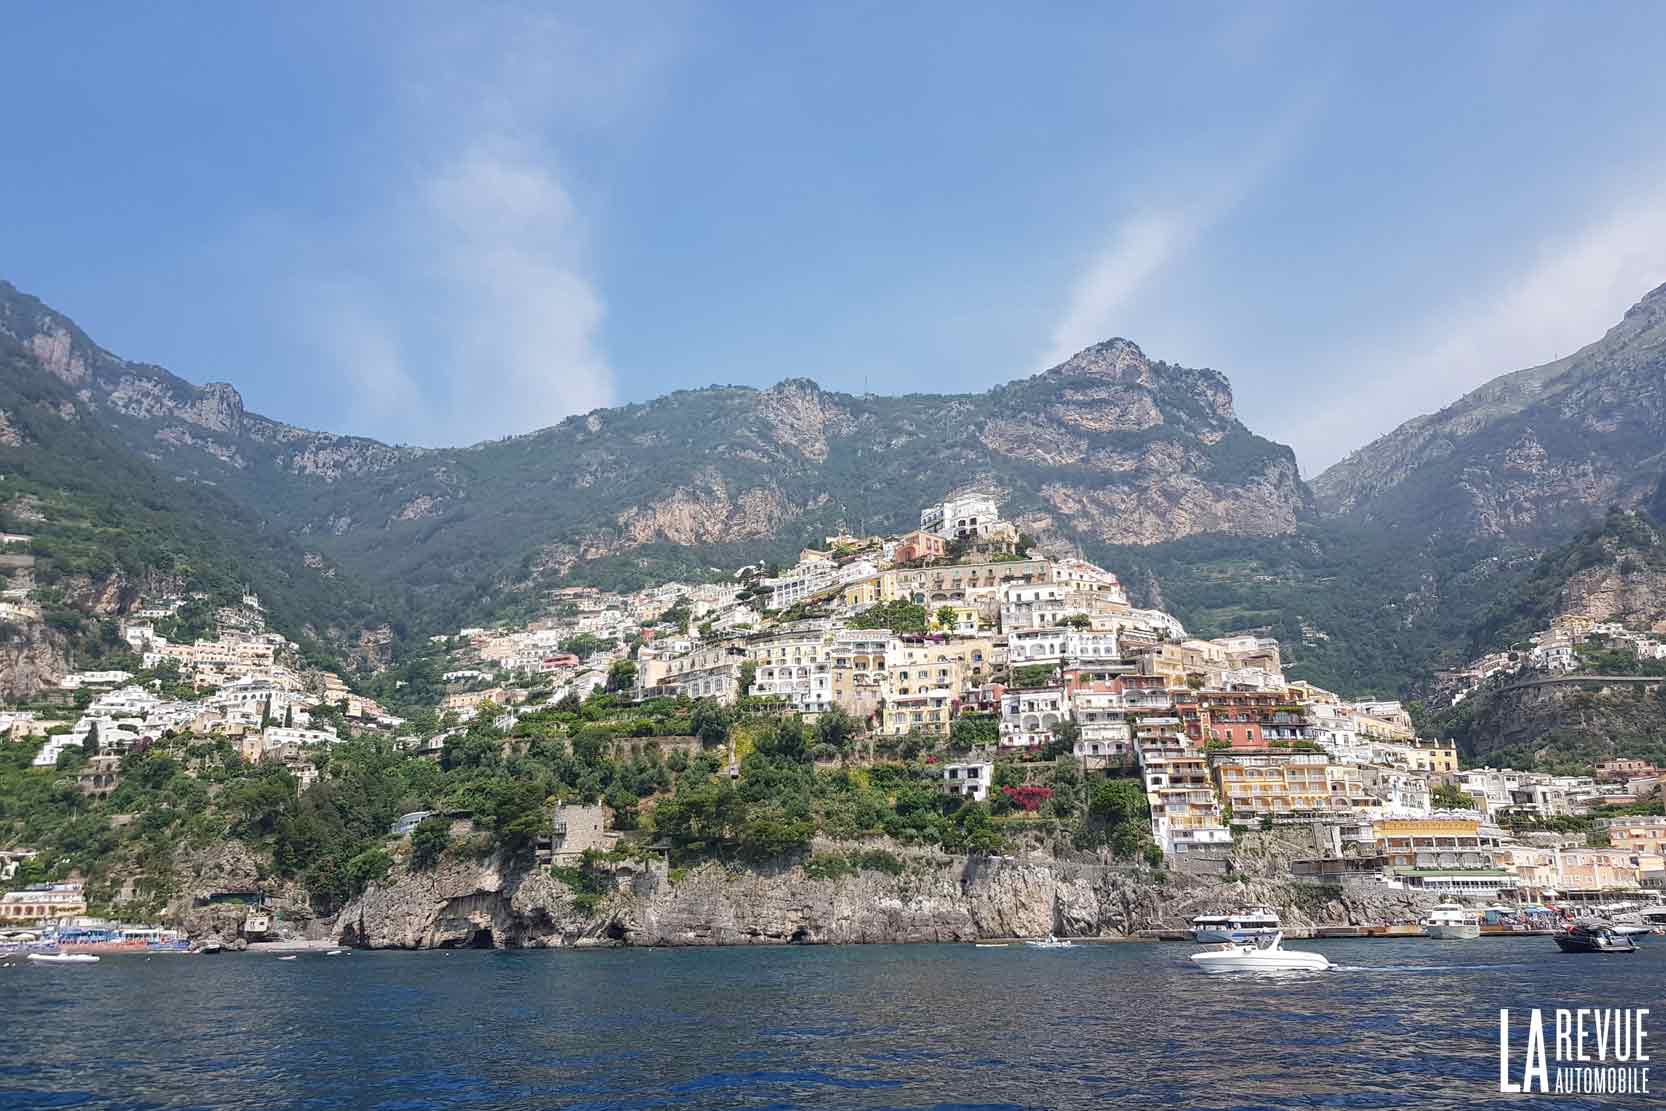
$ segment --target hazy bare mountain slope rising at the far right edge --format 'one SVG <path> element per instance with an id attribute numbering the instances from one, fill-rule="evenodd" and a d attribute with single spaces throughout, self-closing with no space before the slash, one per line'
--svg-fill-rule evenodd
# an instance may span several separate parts
<path id="1" fill-rule="evenodd" d="M 1666 475 L 1666 285 L 1596 343 L 1494 378 L 1313 480 L 1323 511 L 1544 543 Z"/>

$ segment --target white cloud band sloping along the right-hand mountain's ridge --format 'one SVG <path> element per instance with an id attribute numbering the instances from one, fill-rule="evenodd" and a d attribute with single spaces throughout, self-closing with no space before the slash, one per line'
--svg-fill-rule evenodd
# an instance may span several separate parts
<path id="1" fill-rule="evenodd" d="M 1378 343 L 1356 336 L 1354 350 L 1334 358 L 1346 373 L 1333 378 L 1333 400 L 1296 431 L 1304 470 L 1316 473 L 1498 375 L 1571 355 L 1663 281 L 1666 188 L 1651 187 L 1523 252 L 1483 295 L 1441 305 Z M 1371 355 L 1359 358 L 1361 350 Z"/>

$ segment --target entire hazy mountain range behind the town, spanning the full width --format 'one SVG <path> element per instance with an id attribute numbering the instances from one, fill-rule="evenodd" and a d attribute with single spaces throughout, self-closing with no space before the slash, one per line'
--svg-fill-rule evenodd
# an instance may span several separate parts
<path id="1" fill-rule="evenodd" d="M 526 610 L 558 583 L 790 560 L 985 486 L 1028 533 L 1081 546 L 1200 631 L 1264 631 L 1296 675 L 1381 688 L 1449 663 L 1544 545 L 1659 496 L 1663 321 L 1666 288 L 1576 355 L 1409 421 L 1309 488 L 1288 448 L 1236 418 L 1221 373 L 1128 340 L 978 395 L 786 378 L 412 448 L 250 413 L 232 385 L 127 361 L 0 285 L 0 460 L 102 490 L 75 450 L 97 428 L 100 466 L 125 451 L 150 490 L 200 491 L 202 528 L 230 550 L 258 538 L 250 578 L 285 580 L 295 618 L 338 645 L 383 621 L 415 633 Z"/>

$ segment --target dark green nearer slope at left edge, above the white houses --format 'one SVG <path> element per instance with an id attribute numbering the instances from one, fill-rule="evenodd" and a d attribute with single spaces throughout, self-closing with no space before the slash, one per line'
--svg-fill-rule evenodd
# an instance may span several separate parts
<path id="1" fill-rule="evenodd" d="M 348 655 L 377 621 L 368 595 L 307 566 L 290 536 L 208 483 L 135 453 L 35 350 L 0 333 L 0 696 L 123 656 L 113 618 L 142 593 L 235 598 L 257 581 L 310 650 Z M 30 606 L 35 620 L 25 620 Z"/>

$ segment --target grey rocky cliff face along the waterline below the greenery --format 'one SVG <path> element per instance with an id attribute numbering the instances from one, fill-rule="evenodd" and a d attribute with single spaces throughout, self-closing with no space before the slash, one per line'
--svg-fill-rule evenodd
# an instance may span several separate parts
<path id="1" fill-rule="evenodd" d="M 342 943 L 368 948 L 843 944 L 1133 936 L 1246 901 L 1281 906 L 1293 926 L 1406 921 L 1423 908 L 1403 893 L 1341 894 L 1279 874 L 1250 868 L 1225 881 L 1175 873 L 1160 883 L 1126 866 L 923 854 L 910 856 L 900 876 L 840 879 L 811 879 L 798 866 L 706 864 L 676 881 L 663 868 L 621 873 L 618 888 L 583 911 L 548 874 L 448 859 L 431 873 L 373 884 L 342 911 L 335 931 Z"/>

